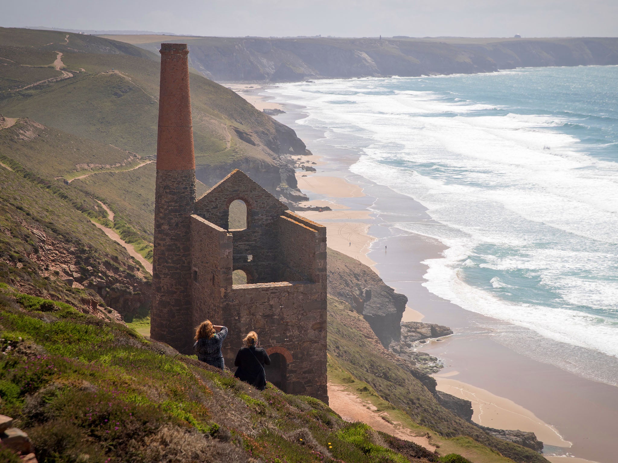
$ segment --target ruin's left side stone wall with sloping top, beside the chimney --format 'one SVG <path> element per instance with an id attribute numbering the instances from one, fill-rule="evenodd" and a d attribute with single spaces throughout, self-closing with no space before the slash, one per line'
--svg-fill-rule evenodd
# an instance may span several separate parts
<path id="1" fill-rule="evenodd" d="M 222 325 L 221 301 L 232 286 L 232 235 L 192 215 L 191 248 L 193 327 L 206 319 Z"/>

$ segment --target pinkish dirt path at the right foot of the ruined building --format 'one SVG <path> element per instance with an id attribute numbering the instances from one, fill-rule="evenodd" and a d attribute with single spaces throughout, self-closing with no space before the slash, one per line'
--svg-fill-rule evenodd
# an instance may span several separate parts
<path id="1" fill-rule="evenodd" d="M 360 421 L 375 430 L 423 446 L 431 452 L 436 450 L 436 447 L 430 444 L 428 437 L 416 436 L 411 430 L 400 425 L 400 423 L 391 424 L 387 422 L 383 419 L 383 416 L 387 417 L 386 412 L 377 413 L 377 409 L 373 404 L 363 401 L 362 398 L 346 391 L 345 386 L 328 383 L 328 406 L 346 421 Z"/>

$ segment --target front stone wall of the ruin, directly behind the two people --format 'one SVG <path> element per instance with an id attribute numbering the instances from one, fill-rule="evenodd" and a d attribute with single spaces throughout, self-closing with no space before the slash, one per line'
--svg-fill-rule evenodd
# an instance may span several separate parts
<path id="1" fill-rule="evenodd" d="M 229 328 L 224 343 L 226 365 L 250 331 L 271 352 L 289 352 L 287 390 L 328 403 L 326 390 L 326 298 L 320 285 L 308 282 L 234 285 L 223 317 Z M 268 378 L 266 378 L 268 380 Z"/>

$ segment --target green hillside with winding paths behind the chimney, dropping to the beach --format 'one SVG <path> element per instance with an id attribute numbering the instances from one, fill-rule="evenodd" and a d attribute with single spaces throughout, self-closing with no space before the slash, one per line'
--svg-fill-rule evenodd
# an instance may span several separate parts
<path id="1" fill-rule="evenodd" d="M 158 54 L 95 36 L 11 28 L 0 28 L 0 44 L 0 114 L 155 155 Z M 57 52 L 72 77 L 16 90 L 60 75 Z M 200 180 L 214 183 L 242 165 L 270 191 L 296 187 L 287 154 L 305 146 L 291 129 L 197 73 L 190 85 Z"/>

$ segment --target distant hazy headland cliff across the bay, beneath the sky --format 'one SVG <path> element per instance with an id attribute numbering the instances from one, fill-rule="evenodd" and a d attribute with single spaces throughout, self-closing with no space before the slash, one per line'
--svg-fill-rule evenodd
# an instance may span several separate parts
<path id="1" fill-rule="evenodd" d="M 618 38 L 203 37 L 179 41 L 188 42 L 193 67 L 216 81 L 413 77 L 515 67 L 618 64 Z M 139 46 L 156 51 L 159 42 Z"/>

